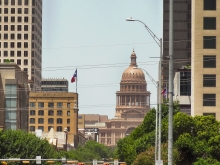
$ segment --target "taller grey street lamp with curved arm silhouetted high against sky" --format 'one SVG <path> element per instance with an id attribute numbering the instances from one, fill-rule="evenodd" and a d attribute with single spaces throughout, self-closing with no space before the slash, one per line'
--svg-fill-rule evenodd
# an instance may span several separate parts
<path id="1" fill-rule="evenodd" d="M 142 24 L 144 24 L 147 31 L 150 33 L 150 35 L 153 37 L 154 41 L 157 43 L 157 45 L 160 47 L 160 61 L 159 61 L 159 86 L 158 86 L 158 93 L 159 93 L 159 123 L 157 123 L 158 118 L 158 111 L 156 110 L 156 138 L 155 138 L 155 164 L 157 164 L 157 161 L 161 162 L 161 86 L 162 86 L 162 80 L 161 80 L 161 59 L 162 59 L 162 38 L 158 38 L 151 30 L 150 28 L 142 21 L 136 20 L 133 18 L 127 18 L 126 21 L 137 21 Z M 147 73 L 147 72 L 146 72 Z M 149 74 L 147 74 L 149 76 Z M 158 159 L 156 159 L 157 155 L 157 124 L 158 124 Z M 158 162 L 159 163 L 159 162 Z"/>

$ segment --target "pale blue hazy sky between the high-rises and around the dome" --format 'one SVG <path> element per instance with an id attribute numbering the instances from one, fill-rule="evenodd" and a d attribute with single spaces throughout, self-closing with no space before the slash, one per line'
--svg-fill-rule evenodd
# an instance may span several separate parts
<path id="1" fill-rule="evenodd" d="M 70 80 L 78 70 L 80 114 L 115 115 L 116 91 L 135 50 L 138 67 L 158 80 L 160 49 L 143 21 L 162 37 L 162 0 L 43 0 L 43 78 Z M 156 106 L 157 90 L 145 75 Z"/>

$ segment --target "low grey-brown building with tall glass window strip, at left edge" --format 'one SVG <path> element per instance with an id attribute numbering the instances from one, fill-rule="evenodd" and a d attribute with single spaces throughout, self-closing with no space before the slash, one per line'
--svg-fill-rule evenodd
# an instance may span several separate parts
<path id="1" fill-rule="evenodd" d="M 28 131 L 28 75 L 14 63 L 0 63 L 0 130 Z"/>

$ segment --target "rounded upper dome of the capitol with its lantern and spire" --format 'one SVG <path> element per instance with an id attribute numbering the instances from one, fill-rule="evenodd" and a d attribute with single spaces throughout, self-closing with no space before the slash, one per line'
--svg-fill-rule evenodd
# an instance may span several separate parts
<path id="1" fill-rule="evenodd" d="M 146 84 L 144 72 L 138 68 L 136 62 L 136 54 L 133 51 L 131 54 L 130 66 L 125 69 L 122 74 L 121 83 L 143 83 Z"/>

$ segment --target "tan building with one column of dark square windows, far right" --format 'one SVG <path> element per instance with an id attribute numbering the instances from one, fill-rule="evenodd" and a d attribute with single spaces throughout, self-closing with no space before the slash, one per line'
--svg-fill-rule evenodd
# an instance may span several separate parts
<path id="1" fill-rule="evenodd" d="M 220 2 L 192 0 L 192 116 L 220 120 Z"/>

